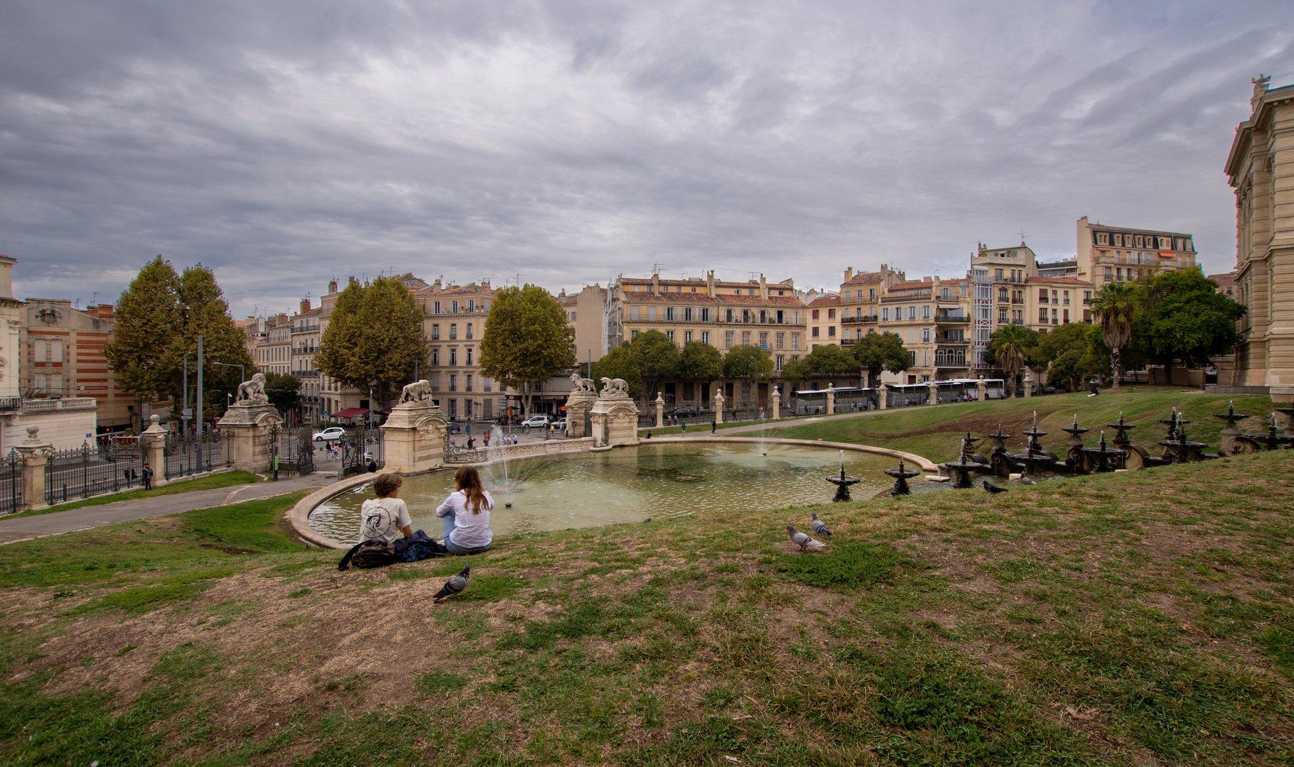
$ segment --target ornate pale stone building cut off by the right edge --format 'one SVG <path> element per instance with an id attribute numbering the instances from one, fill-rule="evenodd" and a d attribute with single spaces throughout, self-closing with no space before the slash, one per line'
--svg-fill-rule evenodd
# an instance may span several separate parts
<path id="1" fill-rule="evenodd" d="M 1250 116 L 1236 128 L 1227 181 L 1236 193 L 1236 385 L 1294 401 L 1294 85 L 1254 79 Z"/>

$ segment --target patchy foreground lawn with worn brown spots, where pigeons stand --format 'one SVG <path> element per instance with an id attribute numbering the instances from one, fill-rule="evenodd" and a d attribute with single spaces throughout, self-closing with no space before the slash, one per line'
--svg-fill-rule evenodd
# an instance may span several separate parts
<path id="1" fill-rule="evenodd" d="M 1289 764 L 1291 468 L 501 537 L 441 604 L 298 495 L 14 543 L 0 762 Z"/>

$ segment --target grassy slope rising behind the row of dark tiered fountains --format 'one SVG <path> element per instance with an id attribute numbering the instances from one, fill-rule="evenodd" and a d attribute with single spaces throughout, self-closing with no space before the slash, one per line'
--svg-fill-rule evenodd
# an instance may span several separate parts
<path id="1" fill-rule="evenodd" d="M 994 400 L 989 402 L 961 402 L 936 407 L 905 407 L 901 410 L 875 411 L 855 418 L 827 420 L 798 427 L 769 429 L 769 436 L 792 438 L 823 438 L 837 442 L 862 442 L 883 448 L 897 448 L 924 455 L 932 460 L 952 460 L 960 450 L 958 437 L 967 429 L 974 437 L 995 432 L 1000 424 L 1007 433 L 1014 435 L 1007 441 L 1011 450 L 1024 450 L 1027 438 L 1020 432 L 1029 428 L 1033 411 L 1038 411 L 1038 427 L 1047 432 L 1042 437 L 1044 448 L 1064 455 L 1069 435 L 1061 428 L 1074 422 L 1091 429 L 1084 437 L 1088 445 L 1096 445 L 1100 432 L 1106 432 L 1106 440 L 1114 437 L 1114 431 L 1106 423 L 1118 420 L 1123 413 L 1124 422 L 1137 428 L 1130 432 L 1135 442 L 1141 444 L 1152 454 L 1162 451 L 1158 441 L 1165 438 L 1167 427 L 1158 422 L 1168 418 L 1172 407 L 1187 414 L 1187 438 L 1207 442 L 1216 449 L 1224 423 L 1212 418 L 1214 413 L 1225 413 L 1227 402 L 1234 400 L 1236 413 L 1249 414 L 1249 420 L 1240 423 L 1245 433 L 1266 431 L 1263 419 L 1271 419 L 1272 400 L 1267 396 L 1251 394 L 1206 394 L 1200 389 L 1134 388 L 1122 392 L 1104 391 L 1097 397 L 1087 394 L 1051 394 L 1017 400 Z M 1284 418 L 1281 419 L 1284 423 Z M 981 449 L 990 446 L 987 440 Z"/>

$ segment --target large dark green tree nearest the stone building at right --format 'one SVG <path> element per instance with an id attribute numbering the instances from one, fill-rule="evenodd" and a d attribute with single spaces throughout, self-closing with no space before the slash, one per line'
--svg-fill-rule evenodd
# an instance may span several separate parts
<path id="1" fill-rule="evenodd" d="M 1203 367 L 1236 347 L 1236 321 L 1246 308 L 1218 292 L 1218 283 L 1198 266 L 1157 274 L 1143 285 L 1145 305 L 1131 344 L 1163 365 L 1172 383 L 1172 365 Z"/>

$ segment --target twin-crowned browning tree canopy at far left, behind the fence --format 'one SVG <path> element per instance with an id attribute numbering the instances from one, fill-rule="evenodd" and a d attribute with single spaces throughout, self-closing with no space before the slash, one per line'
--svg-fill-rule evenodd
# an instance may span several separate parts
<path id="1" fill-rule="evenodd" d="M 175 410 L 184 394 L 185 353 L 190 376 L 197 371 L 199 335 L 204 385 L 238 384 L 238 369 L 216 362 L 242 365 L 246 375 L 251 375 L 247 335 L 229 316 L 215 273 L 198 264 L 176 274 L 170 261 L 157 256 L 118 299 L 113 340 L 104 348 L 104 356 L 122 387 L 170 398 Z"/>

